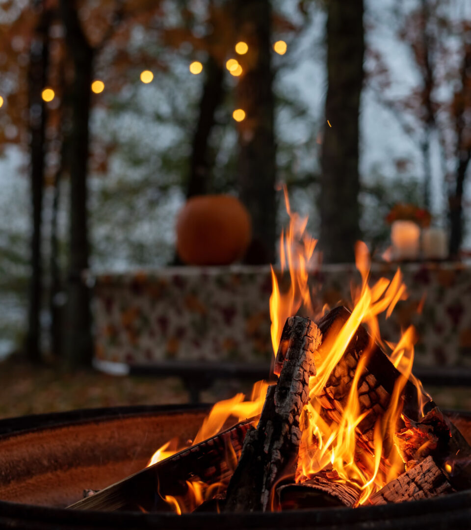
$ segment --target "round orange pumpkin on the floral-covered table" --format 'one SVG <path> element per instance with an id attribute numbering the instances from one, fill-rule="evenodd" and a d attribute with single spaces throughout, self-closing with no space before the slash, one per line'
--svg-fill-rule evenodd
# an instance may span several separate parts
<path id="1" fill-rule="evenodd" d="M 250 214 L 229 195 L 192 197 L 177 219 L 177 252 L 191 265 L 233 263 L 242 258 L 251 238 Z"/>

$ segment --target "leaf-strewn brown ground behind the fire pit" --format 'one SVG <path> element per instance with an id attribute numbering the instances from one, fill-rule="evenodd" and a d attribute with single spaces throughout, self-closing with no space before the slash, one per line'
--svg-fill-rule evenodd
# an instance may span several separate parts
<path id="1" fill-rule="evenodd" d="M 236 392 L 250 395 L 251 385 L 218 381 L 201 394 L 212 403 Z M 471 410 L 470 388 L 426 388 L 446 409 Z M 188 403 L 180 379 L 172 377 L 115 377 L 93 370 L 58 372 L 50 366 L 32 366 L 18 359 L 0 363 L 0 418 L 116 405 Z"/>

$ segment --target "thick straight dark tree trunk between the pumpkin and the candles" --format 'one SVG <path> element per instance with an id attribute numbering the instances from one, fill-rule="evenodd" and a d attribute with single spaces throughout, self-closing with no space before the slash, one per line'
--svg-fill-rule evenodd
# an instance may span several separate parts
<path id="1" fill-rule="evenodd" d="M 363 0 L 327 2 L 326 125 L 322 149 L 321 245 L 324 261 L 353 260 L 360 237 L 359 111 L 363 84 Z"/>

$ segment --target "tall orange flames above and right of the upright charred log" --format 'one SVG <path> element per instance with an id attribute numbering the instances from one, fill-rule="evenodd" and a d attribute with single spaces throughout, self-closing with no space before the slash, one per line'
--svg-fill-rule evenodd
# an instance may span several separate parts
<path id="1" fill-rule="evenodd" d="M 282 326 L 288 316 L 296 314 L 302 308 L 303 316 L 313 320 L 316 317 L 313 311 L 315 304 L 309 298 L 306 267 L 306 263 L 312 258 L 315 242 L 305 232 L 307 220 L 301 220 L 290 211 L 286 190 L 285 198 L 290 226 L 286 231 L 286 238 L 283 239 L 283 234 L 281 236 L 280 254 L 282 268 L 288 261 L 291 284 L 287 293 L 281 294 L 272 270 L 273 293 L 270 298 L 270 315 L 275 352 Z M 288 259 L 285 256 L 288 256 Z M 377 414 L 372 440 L 368 441 L 362 436 L 360 424 L 371 410 L 362 409 L 359 386 L 375 341 L 383 347 L 386 346 L 381 341 L 378 315 L 384 313 L 388 318 L 396 304 L 405 299 L 407 294 L 399 269 L 392 280 L 380 278 L 374 285 L 369 286 L 370 255 L 365 243 L 359 242 L 356 246 L 356 265 L 362 282 L 360 287 L 352 285 L 351 314 L 340 330 L 335 330 L 335 334 L 327 334 L 327 337 L 324 337 L 317 353 L 317 373 L 309 380 L 309 402 L 300 418 L 303 432 L 296 480 L 298 482 L 306 480 L 326 467 L 331 467 L 337 472 L 338 480 L 348 482 L 358 489 L 358 504 L 363 504 L 372 493 L 404 471 L 401 456 L 394 446 L 393 434 L 400 420 L 401 394 L 407 379 L 416 384 L 420 406 L 426 398 L 420 382 L 411 374 L 415 338 L 413 329 L 410 328 L 403 334 L 391 354 L 393 364 L 402 375 L 395 382 L 387 410 L 383 414 Z M 365 324 L 370 332 L 369 348 L 363 351 L 358 360 L 347 399 L 343 404 L 336 402 L 336 410 L 326 414 L 322 406 L 322 396 L 325 395 L 328 379 L 335 373 L 360 324 Z"/>

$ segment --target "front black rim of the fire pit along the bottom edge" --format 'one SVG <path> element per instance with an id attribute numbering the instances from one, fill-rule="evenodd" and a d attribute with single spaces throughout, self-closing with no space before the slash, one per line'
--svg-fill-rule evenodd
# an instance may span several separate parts
<path id="1" fill-rule="evenodd" d="M 38 528 L 54 524 L 54 528 L 200 528 L 224 527 L 226 530 L 243 528 L 323 528 L 334 527 L 337 530 L 347 528 L 415 528 L 426 524 L 429 528 L 442 528 L 443 519 L 450 524 L 471 522 L 471 490 L 451 493 L 439 498 L 422 499 L 388 504 L 367 506 L 356 509 L 337 507 L 316 510 L 286 510 L 283 512 L 247 512 L 247 513 L 192 513 L 192 514 L 156 514 L 131 511 L 104 512 L 94 510 L 67 510 L 43 506 L 24 505 L 16 502 L 0 501 L 0 526 L 14 517 L 16 524 L 29 528 L 28 523 Z M 440 520 L 439 520 L 440 519 Z M 402 522 L 402 525 L 401 525 Z M 437 524 L 439 525 L 437 526 Z M 83 526 L 82 526 L 83 525 Z M 93 525 L 93 526 L 92 526 Z M 322 526 L 319 526 L 322 525 Z M 352 526 L 354 525 L 354 526 Z M 360 526 L 358 526 L 360 525 Z M 376 526 L 378 525 L 378 526 Z M 33 526 L 31 526 L 33 527 Z M 40 526 L 42 528 L 43 526 Z"/>

